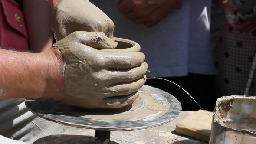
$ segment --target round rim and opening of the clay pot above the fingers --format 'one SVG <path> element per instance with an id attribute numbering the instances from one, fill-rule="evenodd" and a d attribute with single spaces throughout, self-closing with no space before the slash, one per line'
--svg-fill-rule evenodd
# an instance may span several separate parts
<path id="1" fill-rule="evenodd" d="M 118 42 L 118 45 L 115 49 L 101 49 L 100 51 L 105 52 L 139 52 L 141 50 L 141 46 L 128 39 L 122 38 L 114 38 L 115 42 Z"/>

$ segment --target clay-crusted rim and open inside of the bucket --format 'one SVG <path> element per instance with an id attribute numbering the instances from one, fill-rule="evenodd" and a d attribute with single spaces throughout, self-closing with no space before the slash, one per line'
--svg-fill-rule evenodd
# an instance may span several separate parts
<path id="1" fill-rule="evenodd" d="M 237 131 L 256 131 L 256 98 L 242 95 L 217 100 L 214 121 L 222 127 Z"/>

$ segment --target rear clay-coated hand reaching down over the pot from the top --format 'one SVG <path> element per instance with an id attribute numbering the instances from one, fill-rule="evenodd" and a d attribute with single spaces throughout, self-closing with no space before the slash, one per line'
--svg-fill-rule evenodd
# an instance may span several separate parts
<path id="1" fill-rule="evenodd" d="M 88 0 L 61 0 L 51 14 L 51 26 L 57 41 L 75 31 L 103 32 L 114 39 L 114 23 Z"/>

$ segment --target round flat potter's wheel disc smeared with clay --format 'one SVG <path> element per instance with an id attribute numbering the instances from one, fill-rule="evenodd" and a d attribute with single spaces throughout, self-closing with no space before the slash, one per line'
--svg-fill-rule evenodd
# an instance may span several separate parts
<path id="1" fill-rule="evenodd" d="M 25 104 L 34 114 L 49 121 L 103 131 L 151 128 L 172 121 L 181 112 L 180 102 L 161 89 L 144 85 L 139 92 L 132 106 L 105 112 L 62 105 L 46 98 L 26 99 Z"/>

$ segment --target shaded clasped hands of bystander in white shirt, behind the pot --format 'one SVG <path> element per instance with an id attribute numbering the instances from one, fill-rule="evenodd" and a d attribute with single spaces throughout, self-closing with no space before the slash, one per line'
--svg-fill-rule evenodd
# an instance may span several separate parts
<path id="1" fill-rule="evenodd" d="M 181 7 L 181 0 L 122 0 L 118 3 L 119 12 L 127 19 L 147 27 L 155 26 L 171 9 Z"/>

